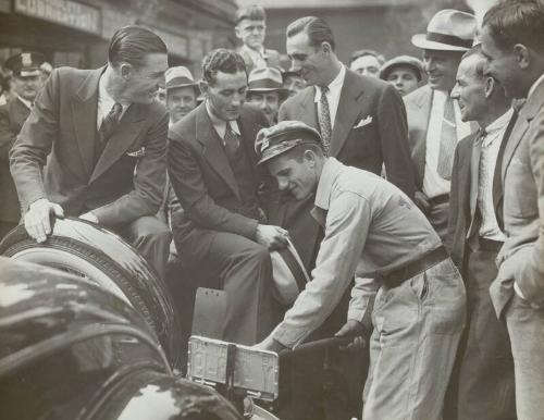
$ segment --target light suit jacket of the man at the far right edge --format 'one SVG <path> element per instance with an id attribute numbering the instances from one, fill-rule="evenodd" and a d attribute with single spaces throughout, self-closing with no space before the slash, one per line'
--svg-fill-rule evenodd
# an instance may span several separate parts
<path id="1" fill-rule="evenodd" d="M 514 282 L 531 304 L 544 307 L 544 83 L 519 111 L 502 162 L 506 242 L 490 292 L 497 313 Z"/>

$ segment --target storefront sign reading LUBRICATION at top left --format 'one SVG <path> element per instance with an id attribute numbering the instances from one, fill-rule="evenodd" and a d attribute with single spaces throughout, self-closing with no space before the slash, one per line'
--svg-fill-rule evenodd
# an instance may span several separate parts
<path id="1" fill-rule="evenodd" d="M 72 0 L 15 0 L 15 12 L 100 35 L 100 9 Z"/>

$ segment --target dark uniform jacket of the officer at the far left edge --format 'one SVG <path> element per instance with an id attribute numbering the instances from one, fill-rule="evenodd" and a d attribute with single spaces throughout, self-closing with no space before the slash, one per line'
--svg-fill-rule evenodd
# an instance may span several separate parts
<path id="1" fill-rule="evenodd" d="M 30 109 L 18 98 L 0 107 L 0 220 L 17 223 L 21 219 L 17 192 L 10 173 L 10 149 Z"/>

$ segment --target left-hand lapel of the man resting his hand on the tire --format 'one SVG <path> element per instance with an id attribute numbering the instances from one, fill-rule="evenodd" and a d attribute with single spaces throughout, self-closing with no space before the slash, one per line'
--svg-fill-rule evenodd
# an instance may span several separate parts
<path id="1" fill-rule="evenodd" d="M 79 148 L 85 180 L 92 171 L 95 160 L 95 141 L 97 134 L 98 81 L 103 72 L 98 69 L 89 72 L 79 89 L 72 97 L 72 115 L 74 132 Z"/>

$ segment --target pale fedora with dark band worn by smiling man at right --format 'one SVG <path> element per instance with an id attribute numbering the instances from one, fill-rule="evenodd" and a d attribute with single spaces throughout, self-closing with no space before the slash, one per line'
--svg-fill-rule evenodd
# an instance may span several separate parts
<path id="1" fill-rule="evenodd" d="M 437 12 L 426 25 L 426 34 L 411 37 L 418 48 L 441 51 L 468 51 L 477 28 L 473 14 L 453 9 Z"/>

